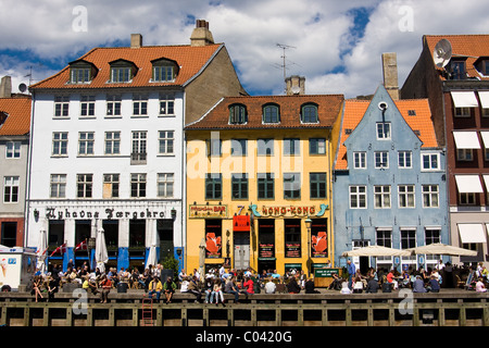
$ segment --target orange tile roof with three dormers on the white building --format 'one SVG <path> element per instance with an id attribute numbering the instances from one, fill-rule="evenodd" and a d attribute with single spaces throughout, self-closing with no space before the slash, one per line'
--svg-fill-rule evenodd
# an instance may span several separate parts
<path id="1" fill-rule="evenodd" d="M 92 63 L 99 70 L 90 84 L 68 84 L 70 65 L 58 74 L 50 76 L 30 88 L 113 88 L 113 87 L 147 87 L 147 86 L 183 86 L 202 70 L 211 58 L 224 45 L 192 46 L 142 46 L 140 48 L 95 48 L 77 61 Z M 173 83 L 150 83 L 152 77 L 151 61 L 165 58 L 179 65 L 179 73 Z M 131 83 L 112 84 L 110 80 L 110 62 L 116 60 L 133 62 L 138 71 Z"/>

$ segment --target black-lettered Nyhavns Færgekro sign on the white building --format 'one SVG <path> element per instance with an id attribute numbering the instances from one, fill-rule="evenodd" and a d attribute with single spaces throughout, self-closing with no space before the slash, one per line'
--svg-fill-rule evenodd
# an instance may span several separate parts
<path id="1" fill-rule="evenodd" d="M 170 216 L 170 214 L 168 214 Z M 92 209 L 57 209 L 46 208 L 46 217 L 48 220 L 63 220 L 63 219 L 164 219 L 165 212 L 162 210 L 153 210 L 149 208 L 140 209 L 115 209 L 101 208 L 100 210 Z"/>

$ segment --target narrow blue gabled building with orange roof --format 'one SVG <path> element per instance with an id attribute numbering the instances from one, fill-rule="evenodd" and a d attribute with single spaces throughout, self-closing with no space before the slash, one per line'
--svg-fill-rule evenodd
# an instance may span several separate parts
<path id="1" fill-rule="evenodd" d="M 392 100 L 380 85 L 371 101 L 347 100 L 334 163 L 336 266 L 368 245 L 408 249 L 448 244 L 446 157 L 427 99 Z M 440 256 L 359 257 L 356 269 L 434 268 Z M 446 260 L 443 260 L 444 262 Z"/>

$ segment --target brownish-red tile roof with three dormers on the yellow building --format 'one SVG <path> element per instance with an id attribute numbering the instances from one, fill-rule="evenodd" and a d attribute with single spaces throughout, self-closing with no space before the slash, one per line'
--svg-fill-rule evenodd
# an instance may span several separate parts
<path id="1" fill-rule="evenodd" d="M 343 100 L 342 95 L 226 97 L 201 120 L 187 125 L 186 129 L 330 128 L 340 114 Z M 279 107 L 279 123 L 263 124 L 262 108 L 267 103 Z M 317 105 L 318 123 L 301 123 L 301 107 L 306 103 Z M 247 108 L 246 124 L 229 124 L 229 107 L 233 104 L 243 104 Z"/>

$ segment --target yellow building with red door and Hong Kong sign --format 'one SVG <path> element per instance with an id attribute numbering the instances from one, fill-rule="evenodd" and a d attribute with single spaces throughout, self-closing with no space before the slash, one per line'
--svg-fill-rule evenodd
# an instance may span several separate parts
<path id="1" fill-rule="evenodd" d="M 187 272 L 333 263 L 331 126 L 343 96 L 228 97 L 186 126 Z M 205 252 L 205 256 L 203 253 Z"/>

